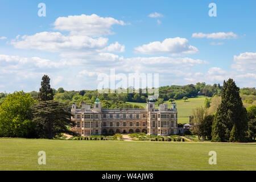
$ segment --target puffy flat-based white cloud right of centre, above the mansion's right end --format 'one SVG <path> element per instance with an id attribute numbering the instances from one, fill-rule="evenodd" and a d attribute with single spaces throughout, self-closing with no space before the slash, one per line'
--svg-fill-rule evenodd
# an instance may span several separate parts
<path id="1" fill-rule="evenodd" d="M 163 42 L 151 42 L 143 46 L 135 47 L 135 51 L 144 54 L 158 54 L 158 53 L 196 53 L 199 52 L 194 46 L 189 45 L 185 38 L 169 38 Z"/>

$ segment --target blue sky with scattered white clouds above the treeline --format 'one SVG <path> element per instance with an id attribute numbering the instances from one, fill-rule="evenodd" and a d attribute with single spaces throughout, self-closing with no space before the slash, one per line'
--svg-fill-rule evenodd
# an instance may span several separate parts
<path id="1" fill-rule="evenodd" d="M 158 73 L 159 86 L 233 78 L 255 87 L 255 7 L 253 0 L 1 0 L 0 92 L 39 91 L 43 75 L 55 89 L 97 89 L 111 69 Z"/>

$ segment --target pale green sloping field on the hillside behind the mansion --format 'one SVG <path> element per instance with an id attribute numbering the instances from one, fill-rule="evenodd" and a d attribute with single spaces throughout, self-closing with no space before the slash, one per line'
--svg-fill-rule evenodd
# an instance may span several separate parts
<path id="1" fill-rule="evenodd" d="M 178 123 L 189 123 L 189 115 L 192 114 L 192 110 L 196 107 L 204 105 L 204 96 L 198 96 L 196 98 L 189 98 L 186 102 L 183 100 L 176 100 L 177 104 L 177 117 Z M 127 102 L 132 105 L 139 105 L 146 108 L 146 103 L 138 103 L 138 102 Z M 165 104 L 168 104 L 168 108 L 171 108 L 171 102 L 165 101 Z M 158 105 L 155 105 L 158 108 Z"/>

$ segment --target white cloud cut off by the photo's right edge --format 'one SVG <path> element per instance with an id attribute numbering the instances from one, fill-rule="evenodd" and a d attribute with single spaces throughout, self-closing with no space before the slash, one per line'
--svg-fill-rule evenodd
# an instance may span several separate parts
<path id="1" fill-rule="evenodd" d="M 240 72 L 256 72 L 256 52 L 244 52 L 234 55 L 231 68 Z"/>

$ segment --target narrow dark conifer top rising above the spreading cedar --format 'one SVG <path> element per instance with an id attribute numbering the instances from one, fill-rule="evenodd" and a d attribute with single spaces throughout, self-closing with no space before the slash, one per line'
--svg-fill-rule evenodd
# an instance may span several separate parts
<path id="1" fill-rule="evenodd" d="M 51 101 L 53 100 L 53 92 L 51 85 L 49 84 L 50 78 L 47 75 L 42 77 L 41 88 L 38 93 L 39 101 Z"/>

